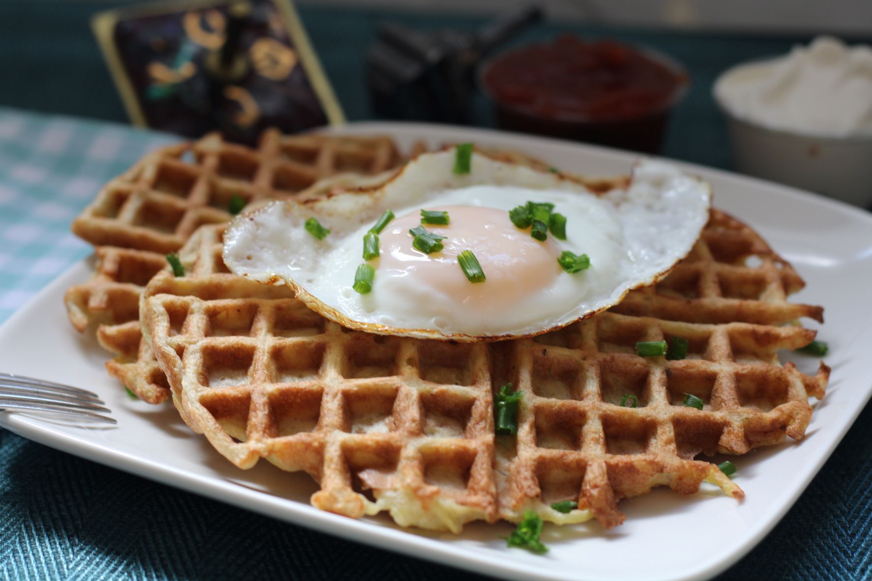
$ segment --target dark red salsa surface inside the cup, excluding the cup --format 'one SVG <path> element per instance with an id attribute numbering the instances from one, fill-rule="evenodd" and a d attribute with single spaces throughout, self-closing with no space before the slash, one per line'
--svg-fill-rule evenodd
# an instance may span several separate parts
<path id="1" fill-rule="evenodd" d="M 617 121 L 671 105 L 684 72 L 611 40 L 562 36 L 497 58 L 484 74 L 494 100 L 542 118 Z"/>

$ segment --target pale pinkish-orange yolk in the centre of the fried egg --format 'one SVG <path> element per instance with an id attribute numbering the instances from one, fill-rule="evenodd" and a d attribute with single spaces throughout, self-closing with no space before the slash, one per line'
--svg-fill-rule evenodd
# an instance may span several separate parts
<path id="1" fill-rule="evenodd" d="M 447 226 L 421 224 L 418 210 L 393 220 L 382 231 L 378 278 L 403 277 L 405 285 L 433 289 L 451 301 L 494 312 L 512 307 L 523 298 L 540 293 L 560 275 L 560 254 L 549 236 L 541 242 L 530 237 L 509 220 L 506 210 L 481 206 L 439 206 L 426 210 L 446 211 Z M 445 236 L 442 251 L 426 254 L 412 247 L 409 230 L 424 226 Z M 473 284 L 457 261 L 457 255 L 471 250 L 479 260 L 486 280 Z M 397 280 L 399 282 L 399 280 Z M 542 301 L 548 301 L 543 295 Z"/>

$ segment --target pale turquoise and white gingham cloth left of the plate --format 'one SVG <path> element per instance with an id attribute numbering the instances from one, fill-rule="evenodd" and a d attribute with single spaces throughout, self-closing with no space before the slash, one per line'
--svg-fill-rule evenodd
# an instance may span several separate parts
<path id="1" fill-rule="evenodd" d="M 0 109 L 0 322 L 91 247 L 72 219 L 108 179 L 177 138 Z"/>

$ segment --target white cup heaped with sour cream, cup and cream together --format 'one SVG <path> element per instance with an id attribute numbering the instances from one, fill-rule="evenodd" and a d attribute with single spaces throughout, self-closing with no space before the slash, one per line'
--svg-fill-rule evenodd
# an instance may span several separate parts
<path id="1" fill-rule="evenodd" d="M 872 204 L 872 48 L 817 37 L 714 84 L 737 169 Z"/>

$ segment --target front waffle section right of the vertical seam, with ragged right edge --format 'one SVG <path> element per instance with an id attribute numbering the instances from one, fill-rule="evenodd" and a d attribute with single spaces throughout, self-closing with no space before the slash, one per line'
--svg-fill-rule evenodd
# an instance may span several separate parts
<path id="1" fill-rule="evenodd" d="M 639 357 L 637 341 L 691 341 L 682 361 Z M 617 500 L 653 486 L 688 494 L 703 480 L 741 497 L 700 453 L 744 454 L 801 439 L 811 419 L 808 396 L 822 397 L 828 368 L 816 377 L 778 364 L 779 349 L 814 339 L 814 331 L 748 323 L 705 325 L 606 311 L 532 340 L 492 347 L 495 377 L 524 393 L 514 446 L 497 467 L 501 507 L 520 517 L 530 499 L 552 503 L 578 491 L 601 523 L 623 522 Z M 741 361 L 741 362 L 739 362 Z M 683 405 L 698 396 L 704 409 Z M 624 395 L 636 408 L 622 407 Z M 632 400 L 629 400 L 632 402 Z"/>

